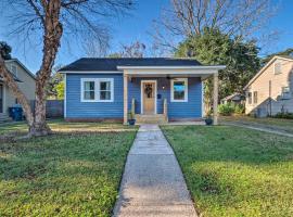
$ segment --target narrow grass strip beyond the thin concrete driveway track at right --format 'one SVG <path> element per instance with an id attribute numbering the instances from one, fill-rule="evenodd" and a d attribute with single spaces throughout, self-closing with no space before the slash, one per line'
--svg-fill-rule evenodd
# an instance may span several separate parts
<path id="1" fill-rule="evenodd" d="M 271 118 L 271 117 L 255 118 L 243 115 L 243 116 L 221 116 L 220 120 L 237 122 L 237 123 L 240 122 L 246 125 L 267 127 L 270 129 L 277 129 L 293 133 L 293 119 Z"/>

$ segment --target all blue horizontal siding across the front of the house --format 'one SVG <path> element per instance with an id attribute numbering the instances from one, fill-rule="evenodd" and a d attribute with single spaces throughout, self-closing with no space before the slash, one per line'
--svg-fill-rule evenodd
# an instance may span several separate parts
<path id="1" fill-rule="evenodd" d="M 80 102 L 81 78 L 114 78 L 114 102 Z M 202 117 L 202 81 L 200 78 L 188 79 L 188 102 L 170 102 L 170 80 L 167 78 L 132 78 L 128 82 L 128 107 L 136 99 L 136 113 L 141 108 L 141 80 L 157 80 L 157 114 L 163 113 L 163 102 L 167 99 L 168 116 L 173 118 Z M 164 88 L 163 88 L 164 87 Z M 68 118 L 123 118 L 123 75 L 122 74 L 67 74 L 66 107 Z"/>

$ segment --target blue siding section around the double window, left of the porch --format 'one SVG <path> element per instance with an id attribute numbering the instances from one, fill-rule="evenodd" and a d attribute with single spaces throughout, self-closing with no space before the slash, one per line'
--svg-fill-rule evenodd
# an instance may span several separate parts
<path id="1" fill-rule="evenodd" d="M 114 102 L 81 102 L 81 78 L 114 78 Z M 66 108 L 68 118 L 123 118 L 123 75 L 67 74 Z"/>

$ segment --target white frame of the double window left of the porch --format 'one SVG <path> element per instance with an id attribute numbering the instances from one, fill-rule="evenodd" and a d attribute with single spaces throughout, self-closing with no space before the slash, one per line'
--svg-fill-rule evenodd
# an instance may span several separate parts
<path id="1" fill-rule="evenodd" d="M 94 82 L 94 99 L 93 100 L 86 100 L 85 99 L 85 82 L 86 81 L 93 81 Z M 110 100 L 101 100 L 100 99 L 100 87 L 101 82 L 111 82 L 111 99 Z M 81 78 L 80 79 L 80 102 L 114 102 L 114 78 Z"/>

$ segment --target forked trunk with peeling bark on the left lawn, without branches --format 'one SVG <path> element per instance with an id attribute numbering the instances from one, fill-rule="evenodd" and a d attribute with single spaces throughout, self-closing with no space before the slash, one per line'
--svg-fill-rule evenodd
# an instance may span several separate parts
<path id="1" fill-rule="evenodd" d="M 51 129 L 46 123 L 46 87 L 52 72 L 52 66 L 56 58 L 63 33 L 62 24 L 59 20 L 61 0 L 41 0 L 41 4 L 44 11 L 44 20 L 42 21 L 44 29 L 43 56 L 41 67 L 36 76 L 35 115 L 28 100 L 20 90 L 13 75 L 5 67 L 4 60 L 0 56 L 0 75 L 23 106 L 28 124 L 29 137 L 39 137 L 51 133 Z"/>

